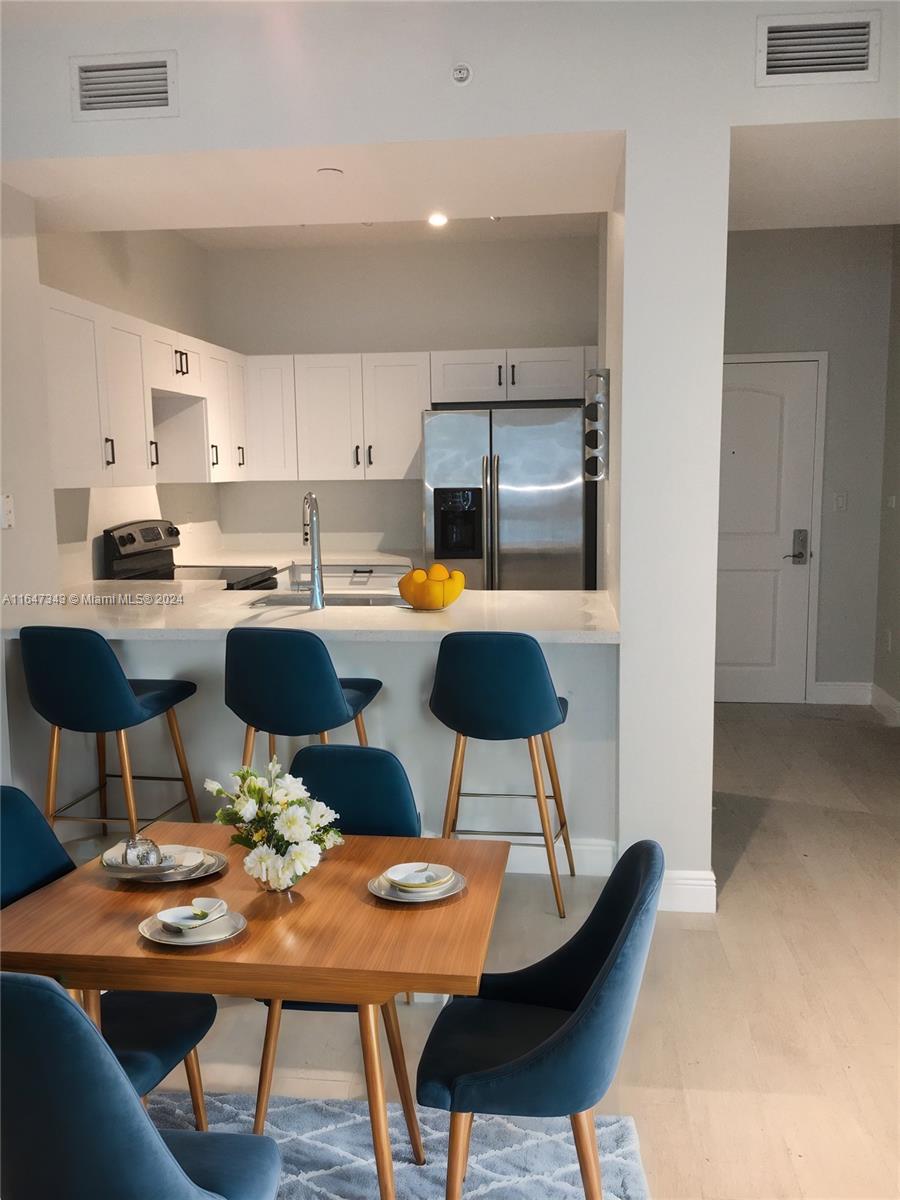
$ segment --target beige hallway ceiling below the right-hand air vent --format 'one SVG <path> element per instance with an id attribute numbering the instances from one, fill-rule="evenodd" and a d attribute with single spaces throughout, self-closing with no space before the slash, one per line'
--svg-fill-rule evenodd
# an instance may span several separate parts
<path id="1" fill-rule="evenodd" d="M 732 130 L 732 229 L 900 223 L 900 121 Z"/>

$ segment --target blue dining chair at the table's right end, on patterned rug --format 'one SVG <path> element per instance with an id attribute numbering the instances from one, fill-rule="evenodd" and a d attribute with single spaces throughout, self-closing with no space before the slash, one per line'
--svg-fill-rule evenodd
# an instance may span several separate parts
<path id="1" fill-rule="evenodd" d="M 455 997 L 419 1062 L 419 1103 L 449 1110 L 446 1200 L 458 1200 L 474 1112 L 571 1118 L 587 1200 L 601 1200 L 593 1108 L 622 1056 L 662 886 L 662 850 L 622 856 L 594 911 L 534 966 Z"/>

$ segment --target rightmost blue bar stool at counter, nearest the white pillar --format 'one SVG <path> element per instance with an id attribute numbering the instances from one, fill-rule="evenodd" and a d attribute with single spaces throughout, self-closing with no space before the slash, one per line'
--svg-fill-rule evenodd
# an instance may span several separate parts
<path id="1" fill-rule="evenodd" d="M 448 634 L 438 652 L 430 707 L 437 719 L 456 733 L 443 838 L 450 838 L 456 832 L 461 796 L 490 794 L 461 791 L 468 738 L 485 742 L 511 742 L 518 738 L 528 740 L 534 797 L 547 847 L 553 895 L 559 916 L 565 917 L 556 857 L 556 842 L 559 838 L 565 846 L 571 875 L 575 875 L 575 858 L 550 731 L 565 721 L 569 702 L 557 696 L 540 646 L 528 634 Z M 556 834 L 547 810 L 540 744 L 544 745 L 559 818 Z"/>

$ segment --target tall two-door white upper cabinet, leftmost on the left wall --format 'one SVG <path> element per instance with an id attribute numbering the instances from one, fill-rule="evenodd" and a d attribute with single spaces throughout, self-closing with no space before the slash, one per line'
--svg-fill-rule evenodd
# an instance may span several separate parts
<path id="1" fill-rule="evenodd" d="M 54 487 L 152 484 L 140 322 L 43 292 Z"/>

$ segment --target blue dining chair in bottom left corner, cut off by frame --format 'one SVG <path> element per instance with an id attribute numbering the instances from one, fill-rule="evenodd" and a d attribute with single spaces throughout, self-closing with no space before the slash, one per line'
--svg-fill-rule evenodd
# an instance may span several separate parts
<path id="1" fill-rule="evenodd" d="M 160 1133 L 53 979 L 0 976 L 4 1200 L 275 1200 L 270 1138 Z"/>

